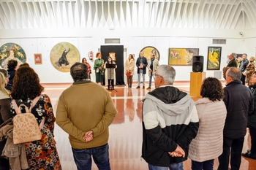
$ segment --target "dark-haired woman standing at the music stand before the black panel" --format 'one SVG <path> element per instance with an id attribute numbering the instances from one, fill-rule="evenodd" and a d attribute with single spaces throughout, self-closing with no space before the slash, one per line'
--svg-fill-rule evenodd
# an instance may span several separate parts
<path id="1" fill-rule="evenodd" d="M 117 66 L 115 68 L 107 68 L 107 64 L 116 64 L 116 63 L 115 61 L 113 61 L 113 58 L 109 56 L 104 65 L 105 84 L 108 85 L 108 90 L 110 90 L 110 85 L 112 89 L 114 89 L 114 85 L 116 84 L 116 67 Z"/>

